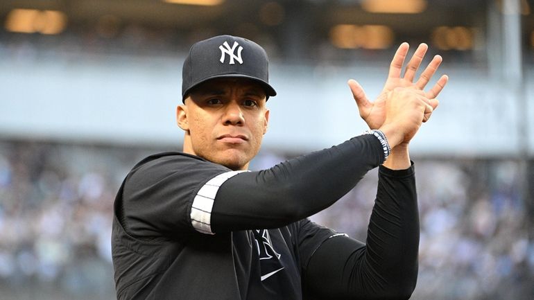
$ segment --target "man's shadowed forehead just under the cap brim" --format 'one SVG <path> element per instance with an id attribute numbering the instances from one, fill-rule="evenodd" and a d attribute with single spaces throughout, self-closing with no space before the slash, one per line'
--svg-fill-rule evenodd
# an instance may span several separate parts
<path id="1" fill-rule="evenodd" d="M 216 78 L 195 87 L 191 94 L 227 94 L 232 90 L 266 96 L 264 88 L 255 80 L 247 78 Z"/>

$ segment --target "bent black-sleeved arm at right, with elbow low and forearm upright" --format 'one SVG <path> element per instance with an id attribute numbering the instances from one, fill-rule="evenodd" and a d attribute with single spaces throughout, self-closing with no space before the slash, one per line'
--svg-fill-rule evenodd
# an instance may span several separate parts
<path id="1" fill-rule="evenodd" d="M 417 281 L 419 217 L 413 167 L 379 171 L 367 245 L 326 240 L 304 270 L 308 293 L 325 299 L 408 299 Z"/>

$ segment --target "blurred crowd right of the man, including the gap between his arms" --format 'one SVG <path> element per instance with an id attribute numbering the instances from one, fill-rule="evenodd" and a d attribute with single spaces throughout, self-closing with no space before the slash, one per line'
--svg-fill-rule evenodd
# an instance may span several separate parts
<path id="1" fill-rule="evenodd" d="M 420 257 L 412 299 L 534 299 L 519 161 L 415 159 Z M 377 170 L 316 222 L 365 240 Z"/>

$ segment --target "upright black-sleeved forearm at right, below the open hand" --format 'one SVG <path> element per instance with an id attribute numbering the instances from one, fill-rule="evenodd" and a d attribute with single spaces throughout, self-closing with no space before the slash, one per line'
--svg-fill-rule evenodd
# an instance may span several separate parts
<path id="1" fill-rule="evenodd" d="M 390 292 L 407 299 L 417 282 L 418 249 L 419 212 L 413 167 L 381 167 L 368 228 L 365 267 L 381 274 Z"/>

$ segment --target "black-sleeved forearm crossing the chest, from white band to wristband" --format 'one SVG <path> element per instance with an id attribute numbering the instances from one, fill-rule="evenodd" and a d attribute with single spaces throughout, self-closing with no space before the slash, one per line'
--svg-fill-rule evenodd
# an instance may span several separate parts
<path id="1" fill-rule="evenodd" d="M 285 226 L 330 206 L 384 161 L 376 137 L 365 134 L 335 147 L 241 173 L 218 191 L 214 232 Z"/>

